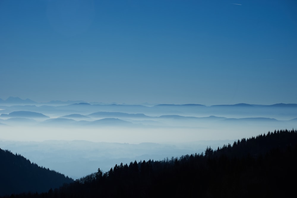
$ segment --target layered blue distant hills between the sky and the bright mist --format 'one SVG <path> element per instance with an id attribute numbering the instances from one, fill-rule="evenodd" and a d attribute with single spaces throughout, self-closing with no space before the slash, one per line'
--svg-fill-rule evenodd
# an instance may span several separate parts
<path id="1" fill-rule="evenodd" d="M 295 128 L 297 104 L 90 104 L 84 101 L 36 103 L 30 99 L 9 97 L 0 100 L 1 127 L 45 126 L 129 126 L 129 127 L 227 127 L 228 124 L 254 124 L 276 128 Z"/>

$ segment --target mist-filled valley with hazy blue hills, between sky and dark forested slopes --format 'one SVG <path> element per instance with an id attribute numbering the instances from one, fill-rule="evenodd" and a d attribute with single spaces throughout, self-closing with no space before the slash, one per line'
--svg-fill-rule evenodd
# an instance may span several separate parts
<path id="1" fill-rule="evenodd" d="M 297 118 L 295 104 L 44 105 L 11 98 L 0 104 L 0 148 L 74 179 L 98 166 L 108 171 L 135 159 L 203 153 L 206 146 L 295 128 Z"/>

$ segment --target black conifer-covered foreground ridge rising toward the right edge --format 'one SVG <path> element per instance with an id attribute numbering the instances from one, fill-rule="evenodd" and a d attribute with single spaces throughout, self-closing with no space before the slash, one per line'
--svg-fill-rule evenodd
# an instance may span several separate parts
<path id="1" fill-rule="evenodd" d="M 12 197 L 290 197 L 296 165 L 297 130 L 286 129 L 200 154 L 98 168 L 47 193 Z"/>

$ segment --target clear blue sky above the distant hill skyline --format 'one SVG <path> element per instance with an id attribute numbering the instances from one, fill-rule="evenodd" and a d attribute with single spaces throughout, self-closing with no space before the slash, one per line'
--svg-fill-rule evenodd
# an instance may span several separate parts
<path id="1" fill-rule="evenodd" d="M 0 98 L 297 103 L 297 1 L 0 0 Z"/>

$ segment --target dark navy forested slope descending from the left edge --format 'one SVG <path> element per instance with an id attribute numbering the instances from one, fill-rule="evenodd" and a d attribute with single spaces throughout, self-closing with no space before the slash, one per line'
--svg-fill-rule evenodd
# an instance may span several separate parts
<path id="1" fill-rule="evenodd" d="M 71 178 L 31 163 L 19 154 L 0 149 L 0 196 L 23 192 L 47 192 Z"/>

